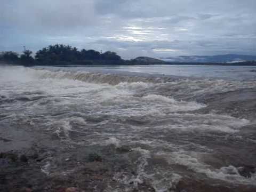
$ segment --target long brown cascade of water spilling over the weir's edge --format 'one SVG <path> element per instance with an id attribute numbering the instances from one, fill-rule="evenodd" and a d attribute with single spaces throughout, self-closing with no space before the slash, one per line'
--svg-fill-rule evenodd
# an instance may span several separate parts
<path id="1" fill-rule="evenodd" d="M 87 83 L 100 83 L 130 86 L 133 88 L 147 88 L 152 84 L 157 84 L 154 90 L 161 93 L 163 91 L 185 93 L 203 93 L 203 92 L 225 92 L 233 91 L 236 89 L 256 87 L 255 81 L 225 81 L 222 79 L 209 79 L 209 78 L 194 78 L 194 77 L 178 77 L 167 75 L 142 75 L 137 73 L 99 73 L 89 71 L 73 71 L 73 70 L 49 70 L 49 69 L 33 69 L 28 68 L 30 73 L 33 73 L 37 78 L 53 78 L 53 79 L 73 79 L 75 81 L 82 81 Z"/>

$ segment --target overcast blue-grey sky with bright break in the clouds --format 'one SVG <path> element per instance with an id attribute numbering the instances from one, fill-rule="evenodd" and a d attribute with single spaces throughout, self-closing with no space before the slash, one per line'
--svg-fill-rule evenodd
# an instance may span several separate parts
<path id="1" fill-rule="evenodd" d="M 1 0 L 0 51 L 50 44 L 124 59 L 256 55 L 255 0 Z"/>

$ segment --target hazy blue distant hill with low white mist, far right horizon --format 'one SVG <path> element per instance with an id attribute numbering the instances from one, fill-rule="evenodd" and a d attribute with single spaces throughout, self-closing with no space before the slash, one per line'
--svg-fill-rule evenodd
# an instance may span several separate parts
<path id="1" fill-rule="evenodd" d="M 191 56 L 179 56 L 179 57 L 167 57 L 161 58 L 168 62 L 217 62 L 217 63 L 236 63 L 243 61 L 254 61 L 256 55 L 240 55 L 240 54 L 224 54 L 224 55 L 191 55 Z"/>

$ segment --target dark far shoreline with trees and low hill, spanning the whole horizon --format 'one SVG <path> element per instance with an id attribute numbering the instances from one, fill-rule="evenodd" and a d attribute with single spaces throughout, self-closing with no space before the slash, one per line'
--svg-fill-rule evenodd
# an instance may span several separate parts
<path id="1" fill-rule="evenodd" d="M 13 51 L 0 52 L 0 64 L 23 66 L 74 66 L 74 65 L 222 65 L 222 66 L 256 66 L 256 61 L 237 63 L 191 63 L 167 62 L 149 57 L 138 57 L 131 60 L 122 59 L 117 53 L 95 50 L 78 50 L 76 47 L 55 44 L 44 47 L 32 56 L 33 52 L 24 50 L 22 54 Z"/>

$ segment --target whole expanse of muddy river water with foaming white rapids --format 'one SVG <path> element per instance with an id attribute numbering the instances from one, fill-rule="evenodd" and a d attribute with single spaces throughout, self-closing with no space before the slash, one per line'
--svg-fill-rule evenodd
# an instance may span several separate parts
<path id="1" fill-rule="evenodd" d="M 256 190 L 255 73 L 151 68 L 0 67 L 0 152 L 37 154 L 15 185 Z"/>

